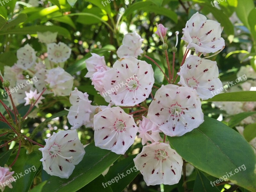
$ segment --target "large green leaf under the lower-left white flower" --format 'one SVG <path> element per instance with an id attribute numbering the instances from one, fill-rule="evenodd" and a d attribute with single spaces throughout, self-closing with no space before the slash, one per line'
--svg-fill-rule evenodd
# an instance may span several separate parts
<path id="1" fill-rule="evenodd" d="M 76 192 L 97 178 L 120 157 L 109 150 L 95 147 L 94 143 L 84 149 L 84 158 L 76 165 L 69 179 L 51 176 L 47 185 L 44 185 L 43 191 Z"/>

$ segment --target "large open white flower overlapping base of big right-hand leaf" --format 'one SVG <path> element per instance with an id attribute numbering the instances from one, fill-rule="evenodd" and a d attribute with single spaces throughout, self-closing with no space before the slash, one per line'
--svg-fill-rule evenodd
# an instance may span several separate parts
<path id="1" fill-rule="evenodd" d="M 181 136 L 204 122 L 201 101 L 195 90 L 177 85 L 162 85 L 148 108 L 149 119 L 164 134 Z"/>

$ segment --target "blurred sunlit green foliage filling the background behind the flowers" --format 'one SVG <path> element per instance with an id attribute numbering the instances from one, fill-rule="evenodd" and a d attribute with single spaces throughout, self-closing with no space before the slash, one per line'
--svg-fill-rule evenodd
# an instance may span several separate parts
<path id="1" fill-rule="evenodd" d="M 169 48 L 175 45 L 175 31 L 180 32 L 179 51 L 176 54 L 178 64 L 185 50 L 184 42 L 180 41 L 182 28 L 197 11 L 206 15 L 208 19 L 217 20 L 224 27 L 222 37 L 225 39 L 226 47 L 220 54 L 211 58 L 217 61 L 222 82 L 235 80 L 241 66 L 251 65 L 256 69 L 255 1 L 114 0 L 109 2 L 105 0 L 10 0 L 0 6 L 0 70 L 3 71 L 5 65 L 12 66 L 16 62 L 16 51 L 25 44 L 30 44 L 37 51 L 37 56 L 44 60 L 47 57 L 46 47 L 38 42 L 36 32 L 58 31 L 57 41 L 68 44 L 72 49 L 71 57 L 65 63 L 64 69 L 75 76 L 74 87 L 87 92 L 93 105 L 107 105 L 91 85 L 91 80 L 84 78 L 87 73 L 84 60 L 91 56 L 90 53 L 104 55 L 108 66 L 112 66 L 117 60 L 116 50 L 121 45 L 124 34 L 137 31 L 144 38 L 143 49 L 146 54 L 155 58 L 167 73 L 161 42 L 154 34 L 156 23 L 162 23 L 169 29 L 167 33 Z M 172 60 L 171 50 L 169 49 L 168 52 L 169 59 Z M 150 63 L 145 58 L 141 60 Z M 175 70 L 178 70 L 178 65 L 176 67 Z M 163 74 L 155 66 L 153 68 L 156 86 L 165 84 Z M 63 110 L 70 107 L 68 97 L 55 97 L 53 100 L 52 96 L 47 95 L 44 103 L 43 108 L 32 112 L 30 115 L 32 118 L 28 118 L 22 127 L 22 132 L 27 133 L 28 136 L 32 134 L 31 136 L 42 144 L 44 143 L 42 138 L 49 137 L 58 129 L 67 130 L 70 127 L 66 117 L 68 112 Z M 220 114 L 223 118 L 229 117 L 225 111 L 214 108 L 211 102 L 203 102 L 202 109 L 204 115 L 215 119 Z M 3 112 L 3 108 L 0 110 Z M 20 110 L 26 111 L 26 108 L 20 106 Z M 83 144 L 93 142 L 91 128 L 81 127 L 78 133 Z M 119 158 L 117 163 L 124 161 L 127 156 L 138 153 L 140 148 L 142 148 L 141 143 L 135 142 L 127 151 L 127 155 Z M 120 169 L 125 168 L 120 167 Z M 127 179 L 129 183 L 132 182 L 126 183 L 126 185 L 129 184 L 128 187 L 124 185 L 124 191 L 184 191 L 182 180 L 173 186 L 148 187 L 142 175 L 137 174 Z M 113 178 L 111 175 L 106 177 Z M 189 190 L 193 189 L 195 179 L 196 171 L 188 177 L 186 185 Z M 216 178 L 209 176 L 208 180 L 216 180 Z M 220 186 L 218 190 L 222 188 L 223 186 Z M 86 188 L 80 191 L 86 191 Z M 246 190 L 241 188 L 241 191 Z"/>

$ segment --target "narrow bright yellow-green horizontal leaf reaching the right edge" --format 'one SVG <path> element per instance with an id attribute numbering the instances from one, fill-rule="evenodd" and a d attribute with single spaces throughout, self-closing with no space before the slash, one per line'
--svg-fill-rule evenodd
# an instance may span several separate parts
<path id="1" fill-rule="evenodd" d="M 236 84 L 236 83 L 235 83 Z M 220 93 L 205 101 L 256 101 L 255 91 Z"/>

